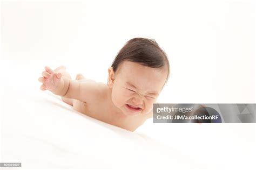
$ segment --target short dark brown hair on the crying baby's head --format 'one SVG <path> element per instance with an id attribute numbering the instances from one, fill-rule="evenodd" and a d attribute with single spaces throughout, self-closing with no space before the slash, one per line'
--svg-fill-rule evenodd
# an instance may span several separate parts
<path id="1" fill-rule="evenodd" d="M 167 67 L 168 74 L 165 83 L 170 76 L 170 65 L 166 53 L 159 47 L 156 40 L 147 38 L 133 38 L 127 41 L 120 49 L 116 58 L 112 62 L 114 72 L 123 61 L 131 61 L 140 65 L 159 68 L 160 70 Z"/>

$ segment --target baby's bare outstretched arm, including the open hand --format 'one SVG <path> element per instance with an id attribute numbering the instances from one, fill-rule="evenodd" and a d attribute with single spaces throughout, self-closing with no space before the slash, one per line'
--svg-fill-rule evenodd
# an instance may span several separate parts
<path id="1" fill-rule="evenodd" d="M 101 91 L 98 82 L 81 82 L 63 77 L 61 73 L 55 73 L 50 67 L 45 66 L 43 77 L 38 81 L 42 82 L 41 90 L 49 90 L 53 94 L 73 98 L 82 102 L 89 102 L 95 96 L 99 96 Z"/>

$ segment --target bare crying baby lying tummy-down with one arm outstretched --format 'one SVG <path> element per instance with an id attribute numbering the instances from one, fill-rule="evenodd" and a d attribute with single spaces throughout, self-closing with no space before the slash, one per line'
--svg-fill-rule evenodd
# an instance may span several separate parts
<path id="1" fill-rule="evenodd" d="M 73 109 L 129 131 L 153 116 L 153 103 L 170 76 L 166 53 L 153 39 L 133 38 L 120 49 L 108 69 L 107 84 L 77 74 L 72 80 L 64 66 L 45 66 L 41 90 L 62 97 Z"/>

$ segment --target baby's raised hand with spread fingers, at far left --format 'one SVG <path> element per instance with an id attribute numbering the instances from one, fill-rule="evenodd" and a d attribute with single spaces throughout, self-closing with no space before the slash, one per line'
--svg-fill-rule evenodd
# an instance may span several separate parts
<path id="1" fill-rule="evenodd" d="M 55 73 L 50 67 L 45 66 L 45 71 L 42 72 L 43 77 L 39 77 L 38 81 L 42 82 L 41 90 L 53 90 L 55 89 L 60 79 L 62 78 L 61 73 Z"/>

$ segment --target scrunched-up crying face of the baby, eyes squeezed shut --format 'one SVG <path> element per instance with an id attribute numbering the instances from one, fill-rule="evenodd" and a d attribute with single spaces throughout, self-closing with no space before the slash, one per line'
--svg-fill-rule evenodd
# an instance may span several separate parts
<path id="1" fill-rule="evenodd" d="M 159 70 L 124 61 L 117 73 L 109 68 L 112 102 L 127 116 L 149 114 L 167 77 L 167 69 Z"/>

